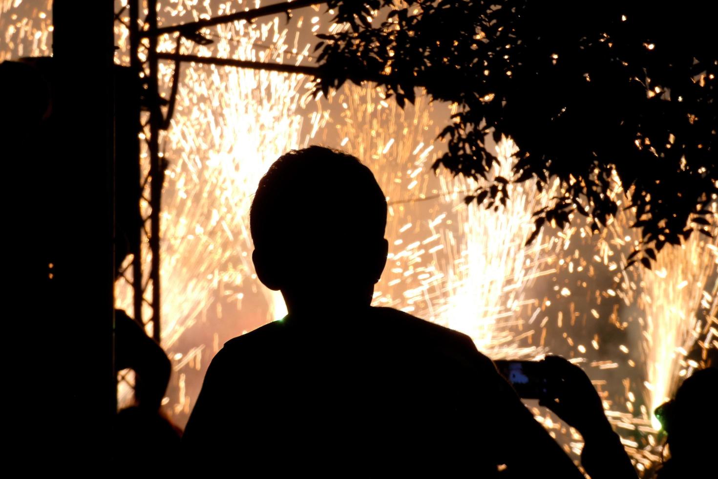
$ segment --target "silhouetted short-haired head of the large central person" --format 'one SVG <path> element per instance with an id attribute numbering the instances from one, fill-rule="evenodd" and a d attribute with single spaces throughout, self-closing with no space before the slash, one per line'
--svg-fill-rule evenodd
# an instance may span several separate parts
<path id="1" fill-rule="evenodd" d="M 368 305 L 386 265 L 386 197 L 357 158 L 324 147 L 279 157 L 251 206 L 256 273 L 292 307 Z"/>

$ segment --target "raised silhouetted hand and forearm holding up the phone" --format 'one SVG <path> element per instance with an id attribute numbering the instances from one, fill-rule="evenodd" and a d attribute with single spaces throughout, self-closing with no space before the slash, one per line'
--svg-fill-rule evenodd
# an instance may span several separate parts
<path id="1" fill-rule="evenodd" d="M 546 356 L 544 361 L 552 381 L 549 396 L 541 399 L 539 404 L 554 411 L 582 435 L 581 464 L 591 479 L 637 478 L 586 373 L 559 356 Z"/>

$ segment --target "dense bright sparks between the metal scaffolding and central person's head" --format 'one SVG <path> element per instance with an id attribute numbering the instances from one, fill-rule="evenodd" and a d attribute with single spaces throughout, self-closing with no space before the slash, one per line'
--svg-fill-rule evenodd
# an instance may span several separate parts
<path id="1" fill-rule="evenodd" d="M 177 8 L 178 15 L 187 13 L 185 6 Z M 280 62 L 286 34 L 277 19 L 235 22 L 216 29 L 213 45 L 184 47 L 195 48 L 200 56 Z M 165 35 L 159 49 L 174 50 L 175 41 Z M 294 60 L 300 62 L 302 53 Z M 161 67 L 161 80 L 171 84 L 176 65 Z M 307 81 L 304 75 L 213 65 L 184 65 L 182 73 L 174 117 L 164 136 L 164 155 L 171 159 L 162 205 L 165 348 L 210 307 L 213 292 L 221 289 L 239 300 L 233 289 L 256 281 L 248 254 L 252 194 L 271 162 L 299 147 L 304 118 L 297 108 Z M 261 291 L 267 317 L 283 317 L 281 294 Z M 130 298 L 129 289 L 118 290 L 119 304 Z"/>

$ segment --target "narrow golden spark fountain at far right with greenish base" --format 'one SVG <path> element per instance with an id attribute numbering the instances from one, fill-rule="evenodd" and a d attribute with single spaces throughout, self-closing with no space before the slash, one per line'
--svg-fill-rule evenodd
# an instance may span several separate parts
<path id="1" fill-rule="evenodd" d="M 614 179 L 617 182 L 617 179 Z M 620 182 L 615 187 L 615 195 L 623 196 Z M 712 203 L 712 211 L 717 211 L 717 203 Z M 629 228 L 632 221 L 630 210 L 621 212 L 610 225 L 612 241 L 604 241 L 605 252 L 612 254 L 617 248 L 623 255 L 630 247 L 638 246 L 635 231 Z M 622 288 L 620 296 L 626 304 L 634 304 L 642 312 L 638 317 L 641 330 L 641 358 L 645 365 L 643 393 L 647 407 L 643 417 L 650 417 L 653 429 L 661 429 L 661 424 L 653 415 L 653 410 L 675 393 L 681 378 L 690 376 L 697 363 L 687 360 L 691 347 L 701 336 L 706 336 L 699 345 L 703 350 L 711 346 L 709 324 L 714 312 L 706 315 L 707 321 L 699 319 L 698 312 L 712 310 L 715 307 L 714 291 L 707 291 L 707 284 L 714 279 L 718 271 L 718 228 L 713 225 L 710 231 L 713 238 L 707 238 L 694 231 L 689 240 L 679 246 L 668 245 L 658 254 L 651 269 L 639 267 L 633 271 L 624 271 L 620 275 Z M 615 294 L 615 292 L 614 292 Z M 620 345 L 627 354 L 629 348 Z M 629 406 L 635 401 L 631 393 Z M 633 412 L 633 411 L 631 411 Z"/>

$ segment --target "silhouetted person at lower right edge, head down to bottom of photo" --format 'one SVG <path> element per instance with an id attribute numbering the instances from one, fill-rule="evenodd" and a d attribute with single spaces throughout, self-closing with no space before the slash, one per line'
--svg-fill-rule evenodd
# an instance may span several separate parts
<path id="1" fill-rule="evenodd" d="M 716 404 L 718 368 L 714 366 L 686 378 L 675 399 L 656 409 L 656 416 L 668 434 L 666 444 L 670 453 L 656 473 L 658 479 L 715 477 Z"/>

